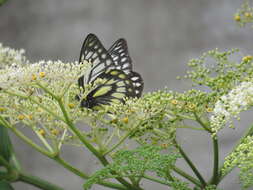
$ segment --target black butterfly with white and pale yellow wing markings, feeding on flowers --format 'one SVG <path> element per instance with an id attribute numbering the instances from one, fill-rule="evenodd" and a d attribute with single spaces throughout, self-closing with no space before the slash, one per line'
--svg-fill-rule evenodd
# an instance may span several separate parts
<path id="1" fill-rule="evenodd" d="M 98 79 L 103 82 L 81 100 L 81 107 L 93 109 L 141 96 L 144 83 L 141 75 L 132 71 L 132 60 L 125 39 L 118 39 L 106 50 L 94 34 L 89 34 L 84 40 L 79 58 L 79 63 L 87 62 L 91 68 L 88 74 L 78 79 L 79 87 L 85 90 L 86 84 L 94 85 Z"/>

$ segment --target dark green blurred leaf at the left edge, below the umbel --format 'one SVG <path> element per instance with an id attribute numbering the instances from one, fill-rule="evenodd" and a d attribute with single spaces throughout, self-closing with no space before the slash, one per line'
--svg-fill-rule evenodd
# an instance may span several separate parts
<path id="1" fill-rule="evenodd" d="M 12 150 L 8 129 L 0 125 L 0 155 L 9 162 L 12 156 Z"/>

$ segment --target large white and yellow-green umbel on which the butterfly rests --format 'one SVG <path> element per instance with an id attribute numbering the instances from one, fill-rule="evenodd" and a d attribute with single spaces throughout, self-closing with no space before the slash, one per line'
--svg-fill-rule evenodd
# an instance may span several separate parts
<path id="1" fill-rule="evenodd" d="M 114 143 L 119 139 L 121 143 L 122 139 L 132 138 L 139 143 L 168 144 L 171 142 L 168 140 L 175 137 L 177 117 L 170 111 L 175 107 L 171 103 L 172 92 L 158 91 L 96 111 L 81 108 L 76 98 L 80 95 L 77 81 L 87 73 L 89 63 L 28 63 L 23 51 L 5 49 L 4 58 L 0 60 L 16 61 L 0 69 L 0 122 L 8 118 L 10 126 L 16 128 L 22 123 L 44 139 L 43 142 L 54 139 L 59 144 L 78 145 L 81 142 L 73 133 L 73 127 L 81 123 L 80 134 L 105 154 L 113 150 L 111 147 L 118 146 Z M 6 53 L 7 50 L 15 53 Z M 14 58 L 16 56 L 22 57 L 24 62 Z M 87 84 L 80 99 L 100 82 Z"/>

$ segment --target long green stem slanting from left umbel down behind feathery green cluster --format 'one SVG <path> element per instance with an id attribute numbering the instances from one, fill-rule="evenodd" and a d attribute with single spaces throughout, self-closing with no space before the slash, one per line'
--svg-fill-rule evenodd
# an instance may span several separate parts
<path id="1" fill-rule="evenodd" d="M 64 115 L 64 118 L 66 120 L 66 123 L 68 124 L 69 128 L 75 133 L 75 135 L 80 139 L 80 141 L 89 149 L 89 151 L 91 151 L 99 160 L 100 162 L 104 165 L 107 166 L 109 164 L 109 162 L 106 160 L 106 158 L 100 154 L 93 146 L 92 144 L 89 143 L 89 141 L 80 133 L 80 131 L 75 127 L 75 125 L 72 123 L 72 121 L 70 120 L 68 113 L 64 107 L 64 104 L 62 102 L 61 99 L 57 99 L 59 106 L 62 110 L 62 113 Z M 112 172 L 112 174 L 114 174 Z M 134 187 L 132 186 L 130 183 L 128 183 L 126 180 L 124 180 L 123 178 L 117 177 L 116 178 L 122 185 L 125 185 L 126 187 L 128 187 L 129 189 L 136 189 L 136 190 L 140 190 L 140 188 L 138 187 Z"/>

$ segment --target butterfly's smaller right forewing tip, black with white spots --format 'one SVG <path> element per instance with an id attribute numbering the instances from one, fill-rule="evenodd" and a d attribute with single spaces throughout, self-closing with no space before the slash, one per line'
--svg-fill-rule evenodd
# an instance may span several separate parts
<path id="1" fill-rule="evenodd" d="M 127 42 L 125 39 L 118 39 L 108 50 L 116 69 L 129 73 L 132 70 L 132 60 L 128 53 Z"/>

